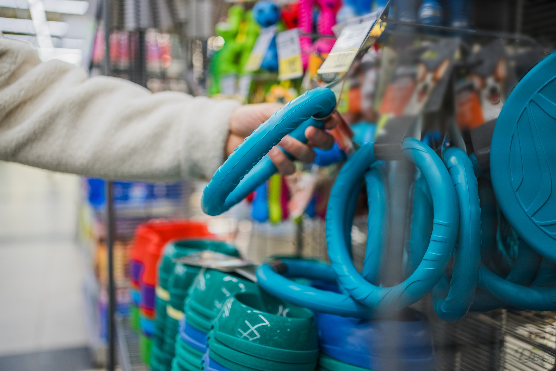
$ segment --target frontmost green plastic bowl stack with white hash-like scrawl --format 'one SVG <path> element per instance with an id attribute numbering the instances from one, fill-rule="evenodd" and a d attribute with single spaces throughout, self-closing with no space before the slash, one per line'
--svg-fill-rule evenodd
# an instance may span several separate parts
<path id="1" fill-rule="evenodd" d="M 205 370 L 313 371 L 319 358 L 314 315 L 264 292 L 230 298 L 209 334 Z"/>

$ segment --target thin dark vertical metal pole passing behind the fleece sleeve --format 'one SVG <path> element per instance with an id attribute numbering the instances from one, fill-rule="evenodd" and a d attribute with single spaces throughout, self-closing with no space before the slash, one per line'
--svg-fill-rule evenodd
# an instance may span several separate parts
<path id="1" fill-rule="evenodd" d="M 111 76 L 110 65 L 110 33 L 112 31 L 112 4 L 110 0 L 104 0 L 102 18 L 105 26 L 105 58 L 104 74 Z M 116 313 L 116 284 L 114 280 L 114 237 L 115 220 L 112 194 L 112 181 L 106 181 L 106 252 L 108 255 L 108 349 L 106 357 L 107 371 L 116 369 L 116 342 L 114 315 Z"/>

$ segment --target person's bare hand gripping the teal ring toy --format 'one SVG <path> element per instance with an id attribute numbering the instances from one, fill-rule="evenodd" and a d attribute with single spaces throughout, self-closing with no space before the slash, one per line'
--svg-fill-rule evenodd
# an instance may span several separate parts
<path id="1" fill-rule="evenodd" d="M 234 149 L 239 146 L 244 139 L 251 134 L 260 124 L 264 123 L 277 109 L 283 105 L 278 103 L 257 103 L 246 104 L 238 107 L 232 112 L 230 117 L 230 136 L 226 143 L 226 155 L 229 156 Z M 332 115 L 327 119 L 324 129 L 336 127 L 337 119 Z M 305 130 L 307 143 L 301 143 L 297 139 L 285 136 L 278 146 L 290 153 L 295 159 L 307 163 L 315 160 L 315 152 L 311 147 L 330 149 L 334 145 L 334 138 L 324 129 L 310 126 Z M 294 163 L 287 158 L 279 148 L 273 147 L 269 152 L 270 159 L 275 164 L 281 175 L 294 173 Z"/>

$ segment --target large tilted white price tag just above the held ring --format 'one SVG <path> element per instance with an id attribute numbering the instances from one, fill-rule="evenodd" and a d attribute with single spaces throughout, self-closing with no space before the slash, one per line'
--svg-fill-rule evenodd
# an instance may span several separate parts
<path id="1" fill-rule="evenodd" d="M 317 72 L 321 74 L 347 72 L 375 22 L 376 20 L 365 21 L 344 27 Z"/>

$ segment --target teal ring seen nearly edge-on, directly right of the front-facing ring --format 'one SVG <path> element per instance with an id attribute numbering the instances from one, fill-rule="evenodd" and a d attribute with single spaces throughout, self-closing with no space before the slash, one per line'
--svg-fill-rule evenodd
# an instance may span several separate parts
<path id="1" fill-rule="evenodd" d="M 447 322 L 455 322 L 467 314 L 477 287 L 481 263 L 481 210 L 479 184 L 467 154 L 451 147 L 444 151 L 443 157 L 458 197 L 458 243 L 450 283 L 444 274 L 432 295 L 436 315 Z"/>

